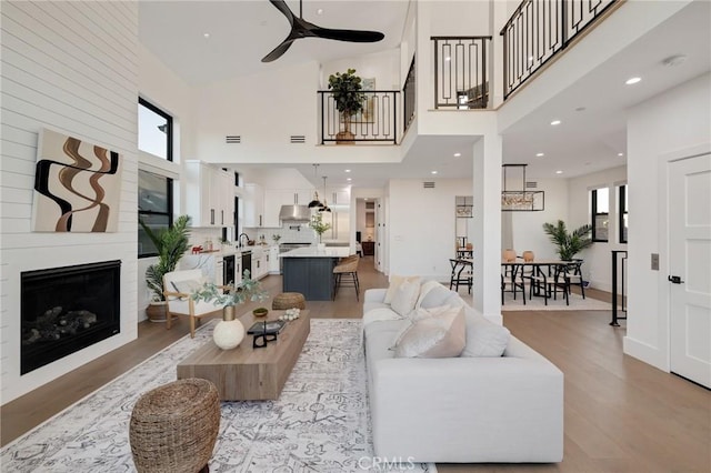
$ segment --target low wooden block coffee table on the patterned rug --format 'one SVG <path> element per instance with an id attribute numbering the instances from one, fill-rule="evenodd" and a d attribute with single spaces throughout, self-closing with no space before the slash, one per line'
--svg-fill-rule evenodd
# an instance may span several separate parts
<path id="1" fill-rule="evenodd" d="M 266 319 L 273 321 L 282 313 L 269 311 Z M 257 320 L 264 319 L 257 319 L 251 312 L 240 318 L 244 331 Z M 222 401 L 278 399 L 310 331 L 309 311 L 302 310 L 299 319 L 287 322 L 277 341 L 262 349 L 253 349 L 252 335 L 247 334 L 233 350 L 221 350 L 210 340 L 178 364 L 178 379 L 211 381 Z"/>

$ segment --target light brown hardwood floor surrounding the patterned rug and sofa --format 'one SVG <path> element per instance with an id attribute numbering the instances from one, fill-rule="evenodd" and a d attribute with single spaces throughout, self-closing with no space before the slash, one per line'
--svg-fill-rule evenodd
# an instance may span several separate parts
<path id="1" fill-rule="evenodd" d="M 388 285 L 372 269 L 372 256 L 362 260 L 359 276 L 363 291 Z M 280 276 L 262 281 L 270 292 L 281 292 Z M 605 293 L 588 294 L 609 300 Z M 360 318 L 362 293 L 357 301 L 354 290 L 343 288 L 336 301 L 308 308 L 312 318 Z M 624 355 L 624 322 L 611 328 L 608 311 L 504 312 L 503 320 L 565 374 L 563 462 L 438 464 L 440 472 L 711 472 L 711 392 Z M 186 320 L 169 331 L 141 323 L 134 342 L 8 403 L 0 413 L 2 444 L 187 333 Z"/>

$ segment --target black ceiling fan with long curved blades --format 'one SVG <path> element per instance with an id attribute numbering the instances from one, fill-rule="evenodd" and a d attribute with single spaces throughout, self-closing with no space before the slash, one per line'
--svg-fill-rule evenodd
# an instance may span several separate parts
<path id="1" fill-rule="evenodd" d="M 281 44 L 262 58 L 262 62 L 271 62 L 281 58 L 281 56 L 291 47 L 291 43 L 299 38 L 324 38 L 350 42 L 377 42 L 384 38 L 384 34 L 378 31 L 332 30 L 330 28 L 317 27 L 303 19 L 303 0 L 299 0 L 299 17 L 296 17 L 291 12 L 284 0 L 269 1 L 277 8 L 277 10 L 281 11 L 284 17 L 287 17 L 287 20 L 289 20 L 289 23 L 291 24 L 291 31 Z"/>

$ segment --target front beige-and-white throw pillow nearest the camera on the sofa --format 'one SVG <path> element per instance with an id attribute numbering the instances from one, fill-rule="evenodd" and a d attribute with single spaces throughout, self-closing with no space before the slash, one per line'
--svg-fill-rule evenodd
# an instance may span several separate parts
<path id="1" fill-rule="evenodd" d="M 450 308 L 443 313 L 427 316 L 402 334 L 395 345 L 395 358 L 459 356 L 465 344 L 467 328 L 462 308 Z"/>

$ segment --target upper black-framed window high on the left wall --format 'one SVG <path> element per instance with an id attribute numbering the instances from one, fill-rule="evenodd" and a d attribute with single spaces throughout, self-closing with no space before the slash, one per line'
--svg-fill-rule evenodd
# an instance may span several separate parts
<path id="1" fill-rule="evenodd" d="M 173 160 L 173 119 L 156 105 L 138 99 L 138 149 Z"/>

